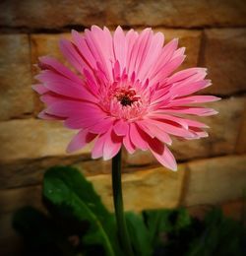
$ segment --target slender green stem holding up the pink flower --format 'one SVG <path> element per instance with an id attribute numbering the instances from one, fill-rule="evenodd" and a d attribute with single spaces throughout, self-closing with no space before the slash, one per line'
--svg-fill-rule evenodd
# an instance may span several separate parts
<path id="1" fill-rule="evenodd" d="M 119 239 L 127 256 L 133 256 L 133 250 L 127 230 L 124 216 L 124 205 L 121 187 L 121 150 L 112 160 L 112 185 L 113 185 L 113 202 L 118 226 Z"/>

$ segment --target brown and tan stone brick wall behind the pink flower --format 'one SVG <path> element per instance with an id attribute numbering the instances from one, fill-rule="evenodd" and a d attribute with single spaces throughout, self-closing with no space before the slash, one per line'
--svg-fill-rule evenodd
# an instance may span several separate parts
<path id="1" fill-rule="evenodd" d="M 126 30 L 148 26 L 164 32 L 166 41 L 179 37 L 188 56 L 183 67 L 208 67 L 214 85 L 203 93 L 222 97 L 210 104 L 219 114 L 206 118 L 209 138 L 173 143 L 177 172 L 159 166 L 147 152 L 124 153 L 126 209 L 218 204 L 239 217 L 246 188 L 244 0 L 3 0 L 0 10 L 1 255 L 17 253 L 12 213 L 27 204 L 41 207 L 40 184 L 48 166 L 78 166 L 112 209 L 110 162 L 91 160 L 90 146 L 66 155 L 74 131 L 38 120 L 42 105 L 31 91 L 37 57 L 62 59 L 58 40 L 69 37 L 71 29 L 83 31 L 92 24 L 112 30 L 117 25 Z"/>

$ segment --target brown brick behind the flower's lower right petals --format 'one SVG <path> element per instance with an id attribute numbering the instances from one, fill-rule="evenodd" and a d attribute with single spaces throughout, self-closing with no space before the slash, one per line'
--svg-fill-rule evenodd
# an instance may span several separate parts
<path id="1" fill-rule="evenodd" d="M 212 117 L 197 118 L 204 121 L 211 128 L 208 129 L 209 137 L 200 140 L 177 140 L 173 138 L 169 147 L 176 160 L 192 160 L 194 158 L 210 158 L 219 155 L 235 153 L 236 147 L 245 149 L 244 137 L 238 141 L 238 131 L 244 120 L 245 97 L 230 97 L 208 104 L 219 113 Z M 228 111 L 229 109 L 229 111 Z M 243 150 L 242 152 L 243 153 Z M 156 164 L 156 160 L 150 152 L 137 151 L 135 154 L 125 155 L 125 161 L 129 165 Z"/>

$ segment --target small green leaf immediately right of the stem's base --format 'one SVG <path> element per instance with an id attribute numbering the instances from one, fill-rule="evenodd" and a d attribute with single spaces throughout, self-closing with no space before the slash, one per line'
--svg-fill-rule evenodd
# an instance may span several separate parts
<path id="1" fill-rule="evenodd" d="M 153 255 L 149 230 L 144 223 L 142 215 L 125 213 L 125 218 L 135 255 Z"/>

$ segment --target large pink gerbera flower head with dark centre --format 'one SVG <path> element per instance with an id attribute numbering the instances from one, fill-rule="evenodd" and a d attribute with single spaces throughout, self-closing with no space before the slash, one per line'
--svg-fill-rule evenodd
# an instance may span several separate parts
<path id="1" fill-rule="evenodd" d="M 85 34 L 72 32 L 73 41 L 62 39 L 64 57 L 75 74 L 51 57 L 39 58 L 40 84 L 33 89 L 47 107 L 43 119 L 63 120 L 79 133 L 67 151 L 94 140 L 92 158 L 113 158 L 124 145 L 132 154 L 150 150 L 156 160 L 175 170 L 176 161 L 166 145 L 170 135 L 185 139 L 207 137 L 207 126 L 182 117 L 208 116 L 214 109 L 194 106 L 219 99 L 189 96 L 211 85 L 206 69 L 190 68 L 174 73 L 183 62 L 184 48 L 173 39 L 163 46 L 162 33 L 146 29 L 111 34 L 92 26 Z"/>

